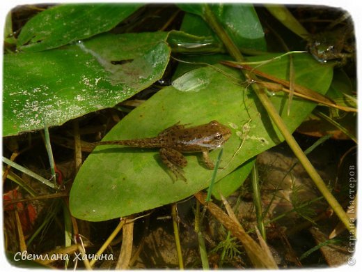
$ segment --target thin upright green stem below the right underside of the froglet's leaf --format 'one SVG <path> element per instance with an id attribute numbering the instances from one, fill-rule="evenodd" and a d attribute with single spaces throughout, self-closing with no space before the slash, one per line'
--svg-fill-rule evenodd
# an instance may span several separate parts
<path id="1" fill-rule="evenodd" d="M 262 234 L 262 238 L 267 241 L 267 233 L 265 232 L 264 218 L 262 216 L 262 200 L 260 197 L 258 167 L 256 165 L 254 165 L 253 169 L 251 169 L 251 185 L 253 186 L 253 200 L 258 229 L 260 230 L 260 234 Z"/>

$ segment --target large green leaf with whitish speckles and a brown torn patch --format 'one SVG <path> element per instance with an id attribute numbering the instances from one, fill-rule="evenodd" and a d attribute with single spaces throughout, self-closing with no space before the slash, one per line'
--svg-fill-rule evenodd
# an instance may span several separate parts
<path id="1" fill-rule="evenodd" d="M 57 126 L 131 97 L 159 80 L 167 33 L 102 34 L 44 52 L 7 54 L 3 135 Z"/>

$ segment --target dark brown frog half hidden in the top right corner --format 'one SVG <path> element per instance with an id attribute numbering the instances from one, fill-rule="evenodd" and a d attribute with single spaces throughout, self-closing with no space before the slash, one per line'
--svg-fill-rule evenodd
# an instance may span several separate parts
<path id="1" fill-rule="evenodd" d="M 354 46 L 349 43 L 352 37 L 353 31 L 350 27 L 322 31 L 307 38 L 307 48 L 317 61 L 343 66 L 347 59 L 354 57 Z"/>

